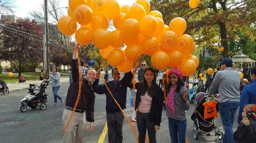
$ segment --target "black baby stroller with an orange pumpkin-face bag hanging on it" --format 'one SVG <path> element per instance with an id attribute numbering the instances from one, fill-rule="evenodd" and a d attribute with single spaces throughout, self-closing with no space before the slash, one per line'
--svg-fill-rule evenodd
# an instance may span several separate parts
<path id="1" fill-rule="evenodd" d="M 215 129 L 215 136 L 218 136 L 219 140 L 222 140 L 224 132 L 222 130 L 218 130 L 217 131 L 217 127 L 215 126 L 215 121 L 214 121 L 214 117 L 212 118 L 207 118 L 204 119 L 202 117 L 204 117 L 204 102 L 206 102 L 207 100 L 207 95 L 208 93 L 198 93 L 195 96 L 195 102 L 196 102 L 196 110 L 194 111 L 194 113 L 191 116 L 191 119 L 194 121 L 194 132 L 193 132 L 193 137 L 195 138 L 195 140 L 198 140 L 199 135 L 203 136 L 211 136 L 211 134 L 209 132 L 211 132 L 213 129 Z M 219 110 L 219 103 L 216 104 L 216 110 L 218 112 Z M 201 116 L 200 116 L 200 115 Z M 202 131 L 204 132 L 208 132 L 207 134 L 203 134 Z"/>

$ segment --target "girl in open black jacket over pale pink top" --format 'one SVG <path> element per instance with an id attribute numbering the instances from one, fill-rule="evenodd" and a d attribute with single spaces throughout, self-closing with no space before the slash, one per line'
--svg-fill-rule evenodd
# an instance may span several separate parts
<path id="1" fill-rule="evenodd" d="M 134 109 L 137 111 L 139 142 L 145 143 L 145 135 L 148 131 L 149 143 L 157 143 L 156 132 L 160 129 L 163 111 L 163 90 L 156 83 L 157 77 L 152 67 L 146 68 L 143 76 L 143 81 L 135 84 L 137 93 Z"/>

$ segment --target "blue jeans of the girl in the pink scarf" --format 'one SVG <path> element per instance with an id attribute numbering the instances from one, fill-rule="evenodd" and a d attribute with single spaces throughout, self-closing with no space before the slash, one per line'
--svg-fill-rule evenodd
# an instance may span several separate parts
<path id="1" fill-rule="evenodd" d="M 175 120 L 168 118 L 171 143 L 186 143 L 187 120 Z"/>

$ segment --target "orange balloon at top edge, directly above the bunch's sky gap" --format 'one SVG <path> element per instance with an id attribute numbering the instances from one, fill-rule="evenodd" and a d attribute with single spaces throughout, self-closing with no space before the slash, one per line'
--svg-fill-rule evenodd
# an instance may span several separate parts
<path id="1" fill-rule="evenodd" d="M 103 4 L 103 14 L 109 20 L 113 20 L 119 16 L 120 6 L 116 0 L 105 0 Z"/>

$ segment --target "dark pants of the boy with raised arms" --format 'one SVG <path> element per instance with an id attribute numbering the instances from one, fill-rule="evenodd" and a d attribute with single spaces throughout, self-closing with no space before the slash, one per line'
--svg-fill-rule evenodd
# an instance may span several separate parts
<path id="1" fill-rule="evenodd" d="M 122 143 L 122 126 L 124 122 L 122 112 L 107 113 L 108 143 Z"/>

